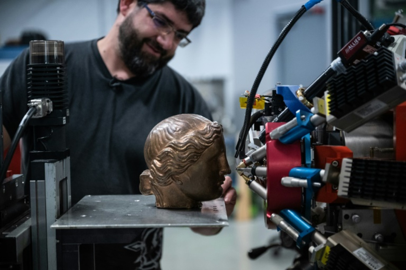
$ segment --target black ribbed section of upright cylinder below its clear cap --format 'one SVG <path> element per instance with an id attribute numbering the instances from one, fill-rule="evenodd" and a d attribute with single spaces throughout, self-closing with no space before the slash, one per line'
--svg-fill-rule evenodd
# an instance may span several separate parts
<path id="1" fill-rule="evenodd" d="M 27 71 L 28 100 L 49 98 L 54 110 L 68 108 L 65 65 L 29 64 Z"/>

